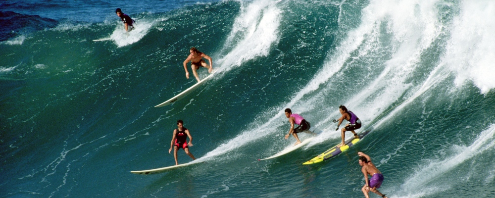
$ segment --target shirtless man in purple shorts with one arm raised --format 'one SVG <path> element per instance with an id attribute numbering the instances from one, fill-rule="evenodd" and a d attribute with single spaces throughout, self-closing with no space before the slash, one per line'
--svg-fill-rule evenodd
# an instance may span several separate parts
<path id="1" fill-rule="evenodd" d="M 382 172 L 376 168 L 375 164 L 371 162 L 370 156 L 367 154 L 364 154 L 363 152 L 357 152 L 357 155 L 359 155 L 359 165 L 362 166 L 361 171 L 364 174 L 364 181 L 366 184 L 361 188 L 361 191 L 364 193 L 364 196 L 366 198 L 370 198 L 368 193 L 371 191 L 379 196 L 382 196 L 382 198 L 387 198 L 386 195 L 380 193 L 378 188 L 382 186 L 383 182 L 383 175 Z M 371 179 L 368 180 L 368 175 L 371 175 Z"/>

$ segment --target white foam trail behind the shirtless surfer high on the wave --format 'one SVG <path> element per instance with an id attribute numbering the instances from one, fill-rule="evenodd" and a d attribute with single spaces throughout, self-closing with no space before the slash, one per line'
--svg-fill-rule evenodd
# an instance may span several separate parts
<path id="1" fill-rule="evenodd" d="M 272 45 L 278 43 L 278 27 L 282 11 L 279 1 L 256 0 L 247 7 L 241 7 L 234 27 L 221 51 L 230 50 L 219 62 L 222 70 L 230 70 L 235 65 L 255 57 L 268 55 Z M 235 48 L 231 49 L 231 46 Z"/>

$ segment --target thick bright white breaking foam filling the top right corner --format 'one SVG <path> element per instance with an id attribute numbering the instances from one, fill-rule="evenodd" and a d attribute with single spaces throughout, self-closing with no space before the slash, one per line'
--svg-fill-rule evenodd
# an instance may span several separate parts
<path id="1" fill-rule="evenodd" d="M 470 80 L 484 94 L 495 88 L 495 1 L 464 0 L 453 20 L 443 62 L 457 73 L 457 86 Z"/>

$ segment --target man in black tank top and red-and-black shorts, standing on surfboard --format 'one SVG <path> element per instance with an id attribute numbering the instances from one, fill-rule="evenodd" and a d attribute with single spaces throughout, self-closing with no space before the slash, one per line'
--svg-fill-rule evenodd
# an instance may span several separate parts
<path id="1" fill-rule="evenodd" d="M 189 137 L 189 143 L 186 142 L 187 137 Z M 172 142 L 170 143 L 170 149 L 168 149 L 168 153 L 170 153 L 172 151 L 172 147 L 174 147 L 175 165 L 179 165 L 179 163 L 177 163 L 177 151 L 179 150 L 179 148 L 184 149 L 187 155 L 193 158 L 193 160 L 196 160 L 193 153 L 189 152 L 189 147 L 193 146 L 192 142 L 193 137 L 189 133 L 189 129 L 186 129 L 186 127 L 184 127 L 184 122 L 182 120 L 177 120 L 177 129 L 174 130 Z"/>

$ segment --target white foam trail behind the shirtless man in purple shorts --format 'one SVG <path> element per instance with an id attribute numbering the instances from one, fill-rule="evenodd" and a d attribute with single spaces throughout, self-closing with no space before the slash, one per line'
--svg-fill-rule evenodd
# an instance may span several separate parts
<path id="1" fill-rule="evenodd" d="M 442 161 L 431 160 L 431 163 L 420 167 L 412 176 L 408 177 L 404 184 L 400 186 L 400 190 L 394 194 L 399 198 L 419 198 L 438 194 L 455 187 L 455 182 L 451 180 L 435 179 L 441 175 L 449 174 L 456 166 L 486 150 L 493 149 L 495 146 L 494 135 L 495 125 L 492 124 L 488 129 L 481 132 L 472 145 L 468 147 L 454 145 L 452 149 L 455 150 L 455 155 Z"/>

